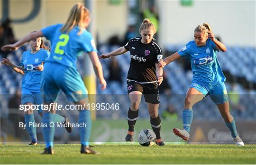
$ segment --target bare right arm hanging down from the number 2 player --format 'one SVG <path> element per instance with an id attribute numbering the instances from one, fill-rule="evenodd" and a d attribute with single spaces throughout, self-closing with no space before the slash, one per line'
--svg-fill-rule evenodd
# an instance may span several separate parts
<path id="1" fill-rule="evenodd" d="M 107 87 L 107 82 L 104 79 L 102 66 L 101 66 L 101 62 L 98 58 L 98 55 L 95 51 L 88 52 L 88 54 L 89 54 L 89 57 L 91 59 L 91 63 L 92 63 L 94 72 L 95 72 L 96 76 L 99 78 L 100 83 L 102 85 L 101 89 L 104 90 Z"/>

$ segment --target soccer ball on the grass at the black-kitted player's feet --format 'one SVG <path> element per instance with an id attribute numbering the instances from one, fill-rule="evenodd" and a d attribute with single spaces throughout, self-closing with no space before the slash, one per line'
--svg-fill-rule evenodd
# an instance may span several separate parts
<path id="1" fill-rule="evenodd" d="M 142 146 L 152 146 L 155 139 L 155 132 L 150 129 L 143 129 L 138 133 L 138 142 Z"/>

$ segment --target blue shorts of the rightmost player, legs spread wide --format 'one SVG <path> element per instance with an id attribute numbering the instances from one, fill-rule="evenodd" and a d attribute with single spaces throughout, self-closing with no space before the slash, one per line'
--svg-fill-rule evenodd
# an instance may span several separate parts
<path id="1" fill-rule="evenodd" d="M 229 100 L 228 92 L 224 82 L 220 82 L 216 85 L 200 85 L 198 83 L 192 82 L 190 88 L 197 89 L 204 95 L 204 97 L 210 95 L 210 99 L 215 104 L 222 104 Z"/>

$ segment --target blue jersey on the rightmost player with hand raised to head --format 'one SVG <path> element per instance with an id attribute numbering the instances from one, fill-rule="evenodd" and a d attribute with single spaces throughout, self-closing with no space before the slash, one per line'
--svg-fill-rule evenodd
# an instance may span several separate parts
<path id="1" fill-rule="evenodd" d="M 190 41 L 178 51 L 181 57 L 187 57 L 191 62 L 193 83 L 215 85 L 226 80 L 219 66 L 217 51 L 216 44 L 210 39 L 203 47 L 198 47 L 195 41 Z"/>

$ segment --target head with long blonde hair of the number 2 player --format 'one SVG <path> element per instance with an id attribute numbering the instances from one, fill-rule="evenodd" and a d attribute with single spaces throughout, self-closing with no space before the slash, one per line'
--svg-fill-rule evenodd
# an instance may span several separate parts
<path id="1" fill-rule="evenodd" d="M 74 28 L 74 26 L 77 25 L 80 27 L 80 31 L 78 32 L 78 35 L 80 35 L 82 33 L 83 20 L 87 16 L 90 16 L 90 11 L 87 8 L 85 8 L 85 6 L 83 6 L 82 3 L 75 4 L 73 8 L 70 10 L 68 19 L 62 26 L 60 31 L 62 33 L 69 33 Z"/>

